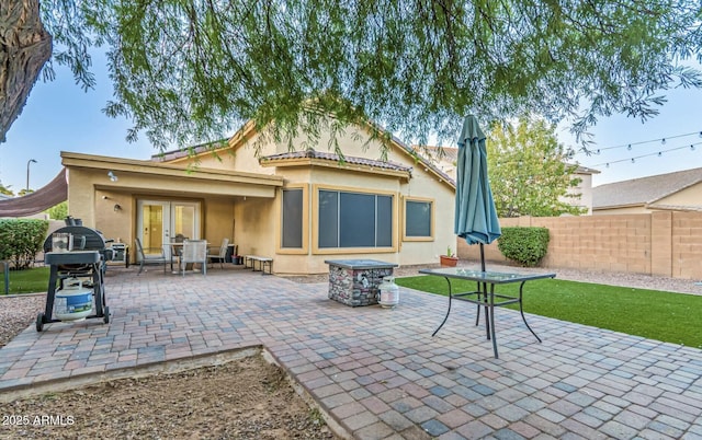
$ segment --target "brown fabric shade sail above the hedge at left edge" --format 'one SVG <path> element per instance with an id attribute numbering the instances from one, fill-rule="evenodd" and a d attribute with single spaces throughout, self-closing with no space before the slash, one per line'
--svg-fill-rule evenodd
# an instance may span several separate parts
<path id="1" fill-rule="evenodd" d="M 60 204 L 68 199 L 66 169 L 54 177 L 46 186 L 23 197 L 0 200 L 0 217 L 26 217 Z"/>

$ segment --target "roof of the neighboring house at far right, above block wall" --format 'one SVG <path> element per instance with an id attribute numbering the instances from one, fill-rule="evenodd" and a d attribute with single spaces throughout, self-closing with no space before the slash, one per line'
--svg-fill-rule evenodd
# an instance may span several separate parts
<path id="1" fill-rule="evenodd" d="M 592 209 L 641 205 L 663 209 L 663 205 L 654 204 L 699 183 L 702 183 L 702 167 L 600 185 L 592 188 Z M 691 209 L 697 208 L 686 207 Z"/>

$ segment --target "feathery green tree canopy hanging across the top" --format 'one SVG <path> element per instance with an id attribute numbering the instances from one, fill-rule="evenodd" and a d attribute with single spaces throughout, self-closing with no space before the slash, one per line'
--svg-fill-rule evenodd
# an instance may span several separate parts
<path id="1" fill-rule="evenodd" d="M 582 132 L 602 115 L 652 117 L 660 93 L 702 85 L 680 63 L 701 56 L 694 0 L 45 0 L 41 8 L 52 60 L 69 65 L 81 85 L 91 85 L 87 47 L 107 47 L 115 101 L 105 112 L 134 121 L 127 139 L 146 132 L 159 148 L 218 139 L 248 119 L 288 140 L 299 127 L 314 136 L 329 114 L 332 132 L 370 119 L 420 144 L 432 134 L 453 138 L 467 113 L 569 117 Z M 12 69 L 0 66 L 0 78 Z"/>

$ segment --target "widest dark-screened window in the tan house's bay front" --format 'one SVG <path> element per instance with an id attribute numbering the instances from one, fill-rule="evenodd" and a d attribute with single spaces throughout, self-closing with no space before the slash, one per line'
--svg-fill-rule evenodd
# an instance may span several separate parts
<path id="1" fill-rule="evenodd" d="M 393 196 L 320 189 L 319 247 L 392 247 Z"/>

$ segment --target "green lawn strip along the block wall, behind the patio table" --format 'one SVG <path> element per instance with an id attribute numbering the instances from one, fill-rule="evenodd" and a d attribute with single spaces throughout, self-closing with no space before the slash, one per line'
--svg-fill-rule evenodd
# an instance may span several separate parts
<path id="1" fill-rule="evenodd" d="M 445 279 L 396 278 L 403 287 L 448 296 Z M 474 281 L 452 279 L 453 292 L 476 290 Z M 519 294 L 519 285 L 496 286 Z M 589 282 L 542 279 L 524 285 L 524 312 L 630 335 L 702 348 L 702 297 Z M 518 304 L 511 309 L 519 310 Z"/>

